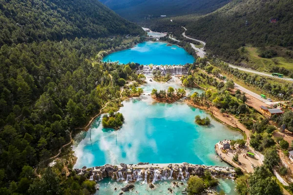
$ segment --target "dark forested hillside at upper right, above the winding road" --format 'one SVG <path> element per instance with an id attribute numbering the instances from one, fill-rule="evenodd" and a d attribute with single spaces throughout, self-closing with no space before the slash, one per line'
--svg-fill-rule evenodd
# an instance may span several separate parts
<path id="1" fill-rule="evenodd" d="M 176 32 L 203 40 L 207 49 L 230 62 L 241 61 L 238 49 L 245 44 L 293 46 L 292 0 L 232 0 L 205 16 L 181 16 L 150 22 L 153 30 Z M 177 33 L 178 35 L 178 33 Z"/>

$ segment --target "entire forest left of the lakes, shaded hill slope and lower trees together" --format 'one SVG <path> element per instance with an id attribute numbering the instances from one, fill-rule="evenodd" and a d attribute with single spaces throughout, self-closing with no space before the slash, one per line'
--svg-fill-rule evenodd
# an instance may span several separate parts
<path id="1" fill-rule="evenodd" d="M 143 41 L 120 35 L 144 31 L 96 0 L 0 0 L 0 21 L 0 194 L 93 194 L 68 158 L 44 167 L 120 97 L 131 69 L 99 59 Z"/>

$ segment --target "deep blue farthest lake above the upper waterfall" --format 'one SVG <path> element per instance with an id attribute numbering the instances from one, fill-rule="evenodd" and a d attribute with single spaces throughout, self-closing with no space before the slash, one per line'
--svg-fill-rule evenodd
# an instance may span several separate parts
<path id="1" fill-rule="evenodd" d="M 104 57 L 104 62 L 129 62 L 141 65 L 185 65 L 193 63 L 194 58 L 183 48 L 176 45 L 167 46 L 162 42 L 143 42 L 133 48 L 117 51 Z"/>

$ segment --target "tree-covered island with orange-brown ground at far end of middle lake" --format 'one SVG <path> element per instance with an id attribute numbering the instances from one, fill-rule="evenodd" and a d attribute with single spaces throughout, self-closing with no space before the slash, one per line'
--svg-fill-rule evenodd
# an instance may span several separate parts
<path id="1" fill-rule="evenodd" d="M 151 96 L 158 102 L 167 102 L 167 103 L 174 103 L 177 100 L 184 97 L 186 94 L 186 91 L 182 88 L 174 89 L 173 87 L 169 87 L 166 90 L 160 90 L 158 92 L 157 89 L 152 89 Z"/>

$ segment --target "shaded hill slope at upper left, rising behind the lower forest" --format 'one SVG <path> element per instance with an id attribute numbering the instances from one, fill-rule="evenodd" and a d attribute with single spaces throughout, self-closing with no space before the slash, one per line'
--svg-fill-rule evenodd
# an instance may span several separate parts
<path id="1" fill-rule="evenodd" d="M 0 0 L 0 46 L 143 33 L 98 0 Z"/>

